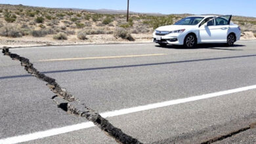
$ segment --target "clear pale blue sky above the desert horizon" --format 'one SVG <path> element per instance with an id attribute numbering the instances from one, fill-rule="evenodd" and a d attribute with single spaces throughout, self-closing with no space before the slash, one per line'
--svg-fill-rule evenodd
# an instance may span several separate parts
<path id="1" fill-rule="evenodd" d="M 129 0 L 133 12 L 232 14 L 256 17 L 255 0 Z M 127 0 L 0 0 L 1 4 L 52 8 L 127 9 Z"/>

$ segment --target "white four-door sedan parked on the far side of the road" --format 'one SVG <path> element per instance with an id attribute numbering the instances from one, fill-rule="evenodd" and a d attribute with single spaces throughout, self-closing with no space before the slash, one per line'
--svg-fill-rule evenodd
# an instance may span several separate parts
<path id="1" fill-rule="evenodd" d="M 230 22 L 228 16 L 188 16 L 170 26 L 158 27 L 154 42 L 161 46 L 184 45 L 191 48 L 200 43 L 226 43 L 228 46 L 240 40 L 241 29 Z"/>

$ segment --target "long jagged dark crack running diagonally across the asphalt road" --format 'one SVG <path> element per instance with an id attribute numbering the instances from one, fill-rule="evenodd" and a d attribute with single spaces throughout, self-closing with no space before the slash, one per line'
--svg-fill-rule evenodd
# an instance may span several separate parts
<path id="1" fill-rule="evenodd" d="M 76 115 L 78 117 L 85 117 L 87 120 L 93 122 L 98 128 L 106 133 L 106 135 L 114 138 L 117 143 L 141 143 L 138 139 L 131 137 L 130 135 L 125 134 L 119 128 L 113 126 L 108 120 L 101 117 L 96 111 L 87 107 L 84 103 L 80 103 L 79 99 L 75 98 L 70 94 L 65 88 L 60 87 L 60 85 L 51 77 L 47 77 L 45 74 L 37 71 L 33 67 L 33 63 L 30 63 L 28 58 L 19 56 L 18 54 L 12 54 L 9 52 L 9 48 L 3 47 L 2 50 L 5 56 L 9 56 L 12 60 L 17 60 L 25 67 L 25 70 L 30 73 L 32 76 L 37 77 L 41 81 L 47 82 L 47 86 L 50 90 L 56 94 L 53 96 L 53 101 L 58 105 L 59 108 L 68 112 L 69 114 Z M 62 98 L 68 102 L 58 103 L 56 98 Z M 70 103 L 72 102 L 72 103 Z M 75 105 L 82 105 L 83 110 L 79 110 Z"/>

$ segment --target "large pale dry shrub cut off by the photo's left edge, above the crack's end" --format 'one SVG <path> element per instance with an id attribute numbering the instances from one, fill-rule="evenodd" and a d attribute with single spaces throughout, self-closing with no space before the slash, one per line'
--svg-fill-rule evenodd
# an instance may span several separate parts
<path id="1" fill-rule="evenodd" d="M 20 28 L 12 25 L 1 27 L 0 35 L 4 37 L 22 37 Z"/>

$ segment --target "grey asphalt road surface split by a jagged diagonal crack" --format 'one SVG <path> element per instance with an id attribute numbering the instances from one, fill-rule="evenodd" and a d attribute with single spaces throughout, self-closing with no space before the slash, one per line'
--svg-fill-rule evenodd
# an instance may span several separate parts
<path id="1" fill-rule="evenodd" d="M 39 71 L 102 113 L 255 85 L 255 44 L 239 41 L 230 48 L 194 49 L 155 44 L 53 46 L 11 52 L 29 58 Z M 152 56 L 138 56 L 146 54 Z M 137 57 L 118 58 L 133 55 Z M 92 57 L 98 59 L 40 61 Z M 86 122 L 58 109 L 45 83 L 30 77 L 20 63 L 0 56 L 0 67 L 0 139 Z M 200 143 L 255 122 L 255 94 L 247 90 L 107 119 L 143 143 Z M 255 141 L 255 130 L 248 132 Z M 218 143 L 241 142 L 244 135 Z M 25 143 L 115 141 L 91 127 Z"/>

